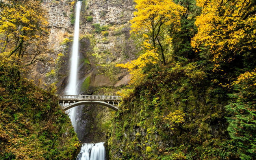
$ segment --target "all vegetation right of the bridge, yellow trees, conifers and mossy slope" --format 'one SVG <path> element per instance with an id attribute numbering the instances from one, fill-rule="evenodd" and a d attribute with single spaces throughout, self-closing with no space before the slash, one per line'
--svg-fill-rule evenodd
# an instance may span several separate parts
<path id="1" fill-rule="evenodd" d="M 156 1 L 137 0 L 138 13 L 154 15 L 147 7 Z M 146 9 L 139 8 L 142 2 Z M 158 28 L 157 45 L 150 18 L 143 22 L 135 13 L 132 20 L 147 25 L 135 34 L 145 49 L 137 60 L 117 65 L 133 77 L 108 132 L 110 159 L 255 159 L 256 2 L 173 2 L 184 11 Z M 171 14 L 161 8 L 151 24 Z"/>

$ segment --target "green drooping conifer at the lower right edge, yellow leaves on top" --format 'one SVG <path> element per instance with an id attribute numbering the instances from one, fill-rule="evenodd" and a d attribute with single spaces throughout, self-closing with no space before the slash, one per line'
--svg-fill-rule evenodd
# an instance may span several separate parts
<path id="1" fill-rule="evenodd" d="M 231 113 L 228 134 L 235 142 L 242 160 L 256 158 L 256 70 L 239 75 L 226 110 Z"/>

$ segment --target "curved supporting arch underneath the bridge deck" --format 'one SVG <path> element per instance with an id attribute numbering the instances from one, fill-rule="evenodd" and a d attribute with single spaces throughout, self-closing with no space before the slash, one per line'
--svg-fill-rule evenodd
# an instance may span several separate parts
<path id="1" fill-rule="evenodd" d="M 63 110 L 68 110 L 68 109 L 71 109 L 73 107 L 76 107 L 76 106 L 79 106 L 79 105 L 88 105 L 88 104 L 96 104 L 96 105 L 104 105 L 106 107 L 109 107 L 115 111 L 118 111 L 119 109 L 117 107 L 115 107 L 114 105 L 111 105 L 107 102 L 104 102 L 104 101 L 78 101 L 78 102 L 75 102 L 75 103 L 71 103 L 67 106 L 62 106 L 61 108 Z"/>

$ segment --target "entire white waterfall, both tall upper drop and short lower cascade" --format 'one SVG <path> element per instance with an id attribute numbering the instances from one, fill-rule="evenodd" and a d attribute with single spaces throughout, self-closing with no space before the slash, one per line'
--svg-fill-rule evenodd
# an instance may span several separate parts
<path id="1" fill-rule="evenodd" d="M 67 85 L 67 95 L 77 95 L 78 94 L 78 59 L 79 59 L 79 24 L 80 24 L 80 9 L 81 9 L 82 1 L 78 1 L 76 3 L 76 20 L 75 20 L 75 31 L 74 31 L 74 41 L 72 48 L 72 57 L 71 57 L 71 66 L 70 66 L 70 74 L 69 74 L 69 83 Z M 74 127 L 74 131 L 77 129 L 76 122 L 76 107 L 69 109 L 69 118 Z M 84 143 L 82 145 L 81 151 L 77 156 L 77 160 L 105 160 L 105 148 L 104 143 Z"/>

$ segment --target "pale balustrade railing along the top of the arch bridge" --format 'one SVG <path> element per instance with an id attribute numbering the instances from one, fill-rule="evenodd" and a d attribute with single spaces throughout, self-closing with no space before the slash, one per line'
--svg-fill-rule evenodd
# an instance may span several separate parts
<path id="1" fill-rule="evenodd" d="M 98 96 L 98 95 L 56 95 L 59 100 L 100 100 L 100 101 L 121 101 L 121 96 Z"/>

